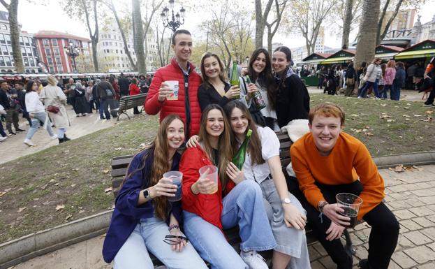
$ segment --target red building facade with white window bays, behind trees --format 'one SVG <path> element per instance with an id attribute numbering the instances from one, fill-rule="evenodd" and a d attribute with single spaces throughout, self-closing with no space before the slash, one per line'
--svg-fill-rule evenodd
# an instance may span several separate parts
<path id="1" fill-rule="evenodd" d="M 91 41 L 88 38 L 73 36 L 59 31 L 38 31 L 34 36 L 40 61 L 47 66 L 50 73 L 89 72 L 84 66 L 91 62 Z M 73 59 L 66 50 L 73 43 L 78 49 L 78 56 Z M 87 62 L 78 61 L 82 56 Z M 75 66 L 74 66 L 75 60 Z"/>

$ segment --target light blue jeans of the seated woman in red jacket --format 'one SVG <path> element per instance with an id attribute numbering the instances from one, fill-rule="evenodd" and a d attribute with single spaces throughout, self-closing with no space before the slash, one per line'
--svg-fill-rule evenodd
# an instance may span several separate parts
<path id="1" fill-rule="evenodd" d="M 221 221 L 224 229 L 239 225 L 240 249 L 262 251 L 277 246 L 263 203 L 260 185 L 253 180 L 237 184 L 223 198 Z M 216 205 L 217 206 L 217 205 Z M 184 211 L 184 232 L 202 259 L 212 269 L 248 269 L 222 231 L 196 214 Z"/>

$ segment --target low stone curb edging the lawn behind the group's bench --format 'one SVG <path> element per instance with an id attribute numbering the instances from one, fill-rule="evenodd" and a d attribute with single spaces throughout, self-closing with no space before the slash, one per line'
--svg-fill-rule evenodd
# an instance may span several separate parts
<path id="1" fill-rule="evenodd" d="M 435 164 L 435 151 L 374 157 L 379 169 Z M 0 269 L 17 265 L 36 256 L 94 238 L 108 230 L 113 210 L 71 221 L 45 231 L 31 233 L 0 245 Z"/>

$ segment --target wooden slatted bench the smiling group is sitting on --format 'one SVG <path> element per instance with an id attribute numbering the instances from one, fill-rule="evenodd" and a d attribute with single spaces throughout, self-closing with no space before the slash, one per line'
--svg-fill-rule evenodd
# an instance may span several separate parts
<path id="1" fill-rule="evenodd" d="M 290 191 L 292 189 L 295 190 L 295 188 L 298 188 L 297 180 L 295 177 L 290 177 L 286 171 L 286 167 L 288 166 L 288 163 L 290 163 L 290 145 L 292 145 L 292 141 L 288 137 L 287 133 L 277 133 L 277 136 L 280 142 L 279 157 L 281 159 L 281 167 L 283 169 L 284 175 L 286 175 L 288 189 L 290 189 Z M 122 181 L 124 180 L 124 176 L 126 175 L 128 164 L 131 162 L 132 159 L 133 155 L 119 156 L 112 159 L 112 190 L 115 197 L 117 196 L 119 186 L 121 185 Z M 309 224 L 307 224 L 307 226 L 305 227 L 305 232 L 307 234 L 308 245 L 313 245 L 315 242 L 317 242 L 313 231 L 311 231 L 311 228 L 309 228 Z M 233 247 L 235 247 L 236 250 L 238 250 L 240 243 L 239 228 L 231 228 L 229 230 L 226 230 L 225 233 L 228 242 Z M 348 254 L 353 254 L 354 250 L 352 246 L 352 240 L 347 229 L 344 230 L 344 236 L 346 238 L 346 252 L 348 252 Z M 272 259 L 272 251 L 261 252 L 261 254 L 267 260 Z M 152 258 L 154 266 L 163 265 L 163 263 L 161 263 L 161 261 L 158 261 L 155 256 L 153 256 L 152 254 L 149 255 Z"/>

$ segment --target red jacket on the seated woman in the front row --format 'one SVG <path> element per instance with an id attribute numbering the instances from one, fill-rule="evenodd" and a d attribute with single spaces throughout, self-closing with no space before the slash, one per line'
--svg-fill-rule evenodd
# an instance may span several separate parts
<path id="1" fill-rule="evenodd" d="M 197 147 L 187 148 L 182 160 L 179 162 L 179 171 L 183 173 L 182 184 L 182 208 L 192 212 L 204 219 L 205 221 L 219 227 L 222 230 L 222 187 L 221 180 L 218 178 L 218 191 L 214 194 L 193 194 L 191 186 L 200 177 L 199 169 L 202 166 L 213 165 L 207 157 L 207 154 L 199 145 Z M 226 184 L 225 194 L 228 194 L 235 187 L 232 180 Z"/>

